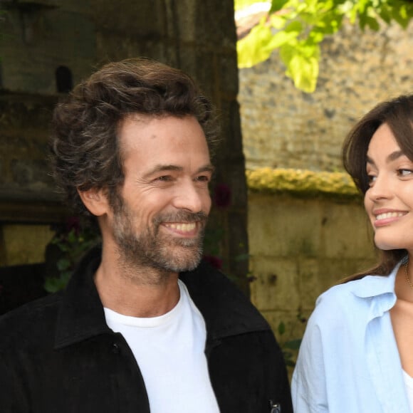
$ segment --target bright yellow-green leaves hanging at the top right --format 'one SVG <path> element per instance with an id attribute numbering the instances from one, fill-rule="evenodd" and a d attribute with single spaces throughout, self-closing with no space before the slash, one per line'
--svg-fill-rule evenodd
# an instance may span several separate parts
<path id="1" fill-rule="evenodd" d="M 317 85 L 321 41 L 343 21 L 378 31 L 380 23 L 407 28 L 413 17 L 412 2 L 402 0 L 235 0 L 235 10 L 263 3 L 268 12 L 237 43 L 239 68 L 266 61 L 279 49 L 286 75 L 306 93 Z"/>

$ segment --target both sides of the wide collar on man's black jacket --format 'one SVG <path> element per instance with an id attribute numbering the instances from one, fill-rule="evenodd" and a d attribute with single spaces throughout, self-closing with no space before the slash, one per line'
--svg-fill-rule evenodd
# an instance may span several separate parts
<path id="1" fill-rule="evenodd" d="M 99 247 L 83 257 L 63 292 L 56 348 L 112 333 L 106 324 L 103 305 L 93 281 L 101 253 Z M 189 295 L 204 317 L 209 340 L 270 329 L 249 299 L 208 263 L 202 262 L 194 271 L 181 273 L 179 278 L 186 284 Z"/>

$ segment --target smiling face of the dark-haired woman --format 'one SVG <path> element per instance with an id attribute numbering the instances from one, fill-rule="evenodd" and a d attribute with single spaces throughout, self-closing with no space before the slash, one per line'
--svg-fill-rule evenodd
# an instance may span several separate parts
<path id="1" fill-rule="evenodd" d="M 376 246 L 413 251 L 413 162 L 386 123 L 372 136 L 366 168 L 370 187 L 365 193 L 365 209 Z"/>

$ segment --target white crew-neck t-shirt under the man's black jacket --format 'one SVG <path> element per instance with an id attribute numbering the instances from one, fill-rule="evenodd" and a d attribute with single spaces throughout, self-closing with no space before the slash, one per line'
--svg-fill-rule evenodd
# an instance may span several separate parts
<path id="1" fill-rule="evenodd" d="M 179 281 L 177 305 L 164 315 L 137 318 L 105 308 L 142 372 L 151 413 L 219 413 L 204 354 L 204 318 Z"/>

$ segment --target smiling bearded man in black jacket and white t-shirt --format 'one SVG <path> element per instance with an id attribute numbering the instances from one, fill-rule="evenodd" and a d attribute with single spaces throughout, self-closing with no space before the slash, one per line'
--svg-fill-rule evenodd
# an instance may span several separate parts
<path id="1" fill-rule="evenodd" d="M 53 126 L 58 183 L 103 242 L 0 320 L 0 412 L 292 412 L 268 324 L 200 263 L 216 128 L 191 78 L 110 63 Z"/>

